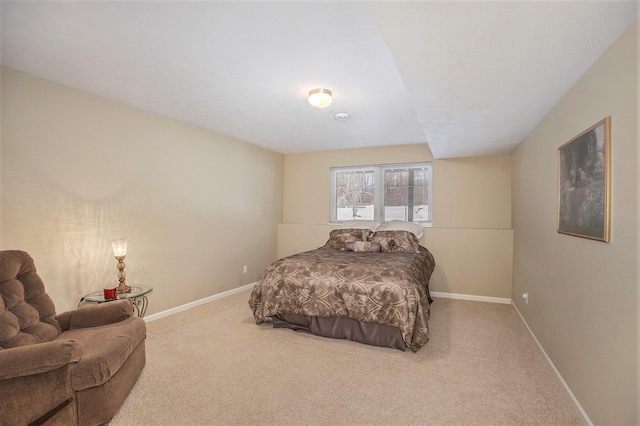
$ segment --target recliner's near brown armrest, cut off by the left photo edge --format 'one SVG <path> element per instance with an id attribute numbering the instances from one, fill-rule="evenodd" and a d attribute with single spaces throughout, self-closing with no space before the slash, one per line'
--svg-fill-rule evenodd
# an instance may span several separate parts
<path id="1" fill-rule="evenodd" d="M 53 340 L 0 350 L 0 380 L 55 370 L 82 357 L 75 340 Z"/>

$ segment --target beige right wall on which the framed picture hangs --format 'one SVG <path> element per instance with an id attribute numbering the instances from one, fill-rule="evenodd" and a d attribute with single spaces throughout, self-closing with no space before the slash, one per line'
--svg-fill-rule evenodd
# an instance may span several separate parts
<path id="1" fill-rule="evenodd" d="M 640 421 L 638 46 L 636 20 L 513 155 L 513 299 L 595 424 Z M 556 232 L 557 149 L 606 116 L 608 244 Z"/>

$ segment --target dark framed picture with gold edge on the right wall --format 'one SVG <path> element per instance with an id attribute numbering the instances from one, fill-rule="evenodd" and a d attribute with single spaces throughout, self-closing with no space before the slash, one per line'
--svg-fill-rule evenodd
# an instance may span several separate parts
<path id="1" fill-rule="evenodd" d="M 558 148 L 558 232 L 609 242 L 610 121 Z"/>

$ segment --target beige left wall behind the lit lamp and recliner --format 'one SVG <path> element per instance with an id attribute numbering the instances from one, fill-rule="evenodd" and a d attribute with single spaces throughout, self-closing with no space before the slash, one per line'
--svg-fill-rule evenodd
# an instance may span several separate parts
<path id="1" fill-rule="evenodd" d="M 148 313 L 276 259 L 282 155 L 8 68 L 2 102 L 0 248 L 34 257 L 59 311 L 117 283 L 114 238 Z"/>

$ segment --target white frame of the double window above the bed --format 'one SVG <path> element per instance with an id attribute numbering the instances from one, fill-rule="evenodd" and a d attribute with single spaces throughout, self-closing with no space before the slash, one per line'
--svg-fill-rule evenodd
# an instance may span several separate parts
<path id="1" fill-rule="evenodd" d="M 344 166 L 344 167 L 331 167 L 331 212 L 330 223 L 340 224 L 347 220 L 338 220 L 337 199 L 336 199 L 336 175 L 338 172 L 367 172 L 373 171 L 373 187 L 374 187 L 374 214 L 373 220 L 381 223 L 387 223 L 384 219 L 384 195 L 385 195 L 385 172 L 388 170 L 397 169 L 416 169 L 426 170 L 427 172 L 427 191 L 428 191 L 428 217 L 429 220 L 414 220 L 412 223 L 419 223 L 423 226 L 432 226 L 433 224 L 433 162 L 421 161 L 416 163 L 390 163 L 390 164 L 371 164 L 364 166 Z M 382 185 L 380 185 L 382 183 Z"/>

